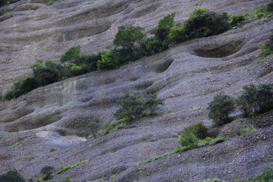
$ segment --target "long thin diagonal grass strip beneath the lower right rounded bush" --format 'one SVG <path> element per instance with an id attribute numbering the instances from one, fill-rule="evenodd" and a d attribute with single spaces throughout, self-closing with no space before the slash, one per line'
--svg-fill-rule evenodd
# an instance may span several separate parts
<path id="1" fill-rule="evenodd" d="M 176 148 L 173 151 L 167 152 L 166 154 L 155 156 L 155 157 L 151 157 L 151 158 L 146 159 L 144 161 L 139 161 L 138 165 L 140 165 L 140 164 L 146 164 L 148 162 L 152 162 L 152 161 L 155 161 L 157 159 L 161 159 L 161 158 L 169 156 L 171 154 L 175 154 L 175 153 L 179 153 L 179 152 L 184 152 L 184 151 L 196 148 L 196 147 L 204 147 L 204 146 L 207 146 L 207 145 L 215 145 L 215 144 L 218 144 L 218 143 L 221 143 L 221 142 L 225 142 L 227 140 L 229 140 L 229 138 L 212 139 L 212 138 L 208 137 L 208 138 L 206 138 L 204 140 L 198 140 L 198 142 L 195 143 L 195 145 L 178 147 L 178 148 Z"/>

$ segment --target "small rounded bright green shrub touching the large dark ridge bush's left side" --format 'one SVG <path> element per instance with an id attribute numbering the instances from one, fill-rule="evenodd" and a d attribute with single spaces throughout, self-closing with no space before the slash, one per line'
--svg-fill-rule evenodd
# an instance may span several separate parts
<path id="1" fill-rule="evenodd" d="M 176 26 L 173 26 L 170 29 L 170 34 L 168 34 L 168 39 L 172 42 L 172 44 L 183 42 L 187 40 L 187 38 L 188 35 L 186 34 L 184 27 L 178 28 Z"/>

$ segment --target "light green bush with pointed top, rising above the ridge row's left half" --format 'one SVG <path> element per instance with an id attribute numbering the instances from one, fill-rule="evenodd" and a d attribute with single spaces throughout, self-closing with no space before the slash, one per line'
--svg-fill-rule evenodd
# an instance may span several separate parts
<path id="1" fill-rule="evenodd" d="M 62 55 L 60 61 L 62 63 L 69 62 L 69 63 L 74 63 L 77 62 L 80 58 L 80 46 L 73 46 L 68 49 L 67 52 L 65 52 L 64 55 Z"/>

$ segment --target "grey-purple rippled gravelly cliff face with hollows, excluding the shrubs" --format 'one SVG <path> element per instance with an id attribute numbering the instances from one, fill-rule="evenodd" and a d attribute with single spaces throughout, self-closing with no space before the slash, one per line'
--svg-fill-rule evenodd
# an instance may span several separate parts
<path id="1" fill-rule="evenodd" d="M 45 3 L 21 1 L 6 7 L 13 12 L 0 17 L 0 92 L 30 75 L 34 58 L 58 62 L 61 54 L 78 44 L 83 53 L 104 50 L 118 26 L 142 26 L 149 35 L 168 13 L 176 12 L 175 23 L 181 24 L 194 8 L 238 14 L 268 1 Z M 268 41 L 273 18 L 257 20 L 186 41 L 119 69 L 72 77 L 0 103 L 0 135 L 9 135 L 0 139 L 0 173 L 10 167 L 31 177 L 44 165 L 59 170 L 88 159 L 53 180 L 67 175 L 72 181 L 108 180 L 118 170 L 121 174 L 113 181 L 190 181 L 215 176 L 229 181 L 254 176 L 273 159 L 272 112 L 247 120 L 271 127 L 149 164 L 138 166 L 137 162 L 174 150 L 177 133 L 185 126 L 197 121 L 209 125 L 206 107 L 216 93 L 238 96 L 235 91 L 243 85 L 273 80 L 272 58 L 253 63 L 259 45 Z M 157 93 L 165 100 L 161 114 L 134 120 L 130 128 L 97 139 L 88 137 L 88 122 L 111 122 L 118 109 L 116 101 L 125 90 Z M 167 109 L 174 114 L 163 116 Z M 225 129 L 218 135 L 224 135 Z M 50 153 L 54 147 L 58 150 Z M 55 156 L 58 159 L 53 160 Z"/>

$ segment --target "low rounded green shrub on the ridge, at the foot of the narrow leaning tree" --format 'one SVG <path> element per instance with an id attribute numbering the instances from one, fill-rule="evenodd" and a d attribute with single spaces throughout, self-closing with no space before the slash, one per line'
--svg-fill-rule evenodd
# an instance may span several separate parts
<path id="1" fill-rule="evenodd" d="M 146 55 L 153 55 L 159 52 L 163 52 L 168 49 L 168 45 L 164 41 L 151 40 L 146 44 Z"/>

